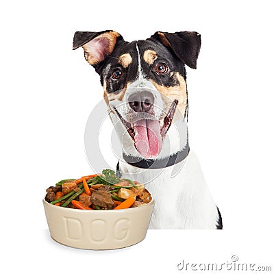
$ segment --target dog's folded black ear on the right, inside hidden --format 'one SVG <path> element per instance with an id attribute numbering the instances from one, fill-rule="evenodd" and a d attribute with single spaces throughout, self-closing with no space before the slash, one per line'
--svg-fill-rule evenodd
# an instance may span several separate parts
<path id="1" fill-rule="evenodd" d="M 201 35 L 197 32 L 155 32 L 155 38 L 171 49 L 179 60 L 182 60 L 191 69 L 196 69 L 197 59 L 201 47 Z"/>

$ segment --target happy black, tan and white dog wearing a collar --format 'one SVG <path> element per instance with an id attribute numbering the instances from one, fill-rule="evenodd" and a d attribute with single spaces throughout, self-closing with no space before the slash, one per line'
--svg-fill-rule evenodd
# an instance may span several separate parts
<path id="1" fill-rule="evenodd" d="M 150 229 L 223 229 L 219 208 L 188 142 L 186 66 L 197 68 L 197 32 L 155 32 L 127 42 L 118 32 L 75 32 L 73 49 L 99 73 L 121 140 L 117 173 L 155 199 Z"/>

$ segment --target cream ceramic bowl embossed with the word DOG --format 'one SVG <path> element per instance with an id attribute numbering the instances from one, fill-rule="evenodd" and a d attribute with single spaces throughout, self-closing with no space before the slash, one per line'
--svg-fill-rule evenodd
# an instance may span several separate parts
<path id="1" fill-rule="evenodd" d="M 119 249 L 142 241 L 154 207 L 123 210 L 77 210 L 42 200 L 51 238 L 79 249 Z"/>

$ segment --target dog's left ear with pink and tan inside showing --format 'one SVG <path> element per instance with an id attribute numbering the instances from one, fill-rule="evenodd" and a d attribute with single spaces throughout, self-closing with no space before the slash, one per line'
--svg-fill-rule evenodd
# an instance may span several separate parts
<path id="1" fill-rule="evenodd" d="M 82 47 L 86 61 L 92 66 L 101 63 L 106 56 L 110 55 L 118 41 L 123 37 L 112 30 L 104 32 L 75 32 L 73 49 Z"/>

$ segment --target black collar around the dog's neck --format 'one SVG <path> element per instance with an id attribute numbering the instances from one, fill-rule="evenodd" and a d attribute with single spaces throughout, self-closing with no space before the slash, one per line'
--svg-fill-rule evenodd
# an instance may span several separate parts
<path id="1" fill-rule="evenodd" d="M 173 155 L 169 155 L 163 159 L 145 159 L 134 156 L 125 155 L 123 153 L 123 158 L 127 164 L 131 164 L 132 166 L 139 167 L 140 169 L 164 169 L 168 166 L 173 166 L 173 164 L 177 164 L 182 162 L 186 158 L 189 153 L 189 145 L 186 143 L 186 147 L 184 149 L 177 151 L 177 153 Z"/>

